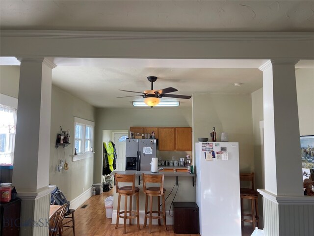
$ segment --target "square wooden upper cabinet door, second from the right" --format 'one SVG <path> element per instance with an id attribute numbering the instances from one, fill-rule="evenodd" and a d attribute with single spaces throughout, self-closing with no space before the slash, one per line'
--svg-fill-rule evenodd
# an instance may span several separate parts
<path id="1" fill-rule="evenodd" d="M 174 127 L 159 127 L 159 150 L 174 150 L 175 149 L 175 128 Z"/>

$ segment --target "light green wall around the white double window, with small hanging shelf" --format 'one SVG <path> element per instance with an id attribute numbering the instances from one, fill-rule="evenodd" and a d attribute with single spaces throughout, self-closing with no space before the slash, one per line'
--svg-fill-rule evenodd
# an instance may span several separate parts
<path id="1" fill-rule="evenodd" d="M 67 92 L 52 86 L 51 112 L 51 146 L 49 183 L 57 185 L 66 198 L 71 201 L 78 197 L 93 184 L 94 158 L 72 161 L 74 144 L 74 117 L 95 120 L 95 108 Z M 57 133 L 70 130 L 71 145 L 66 148 L 55 148 Z M 69 170 L 57 171 L 57 160 L 66 159 Z"/>

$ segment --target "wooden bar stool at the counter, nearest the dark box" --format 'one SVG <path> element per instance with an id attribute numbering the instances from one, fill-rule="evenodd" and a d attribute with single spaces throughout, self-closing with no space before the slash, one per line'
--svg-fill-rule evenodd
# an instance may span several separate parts
<path id="1" fill-rule="evenodd" d="M 160 224 L 160 219 L 163 219 L 163 226 L 165 231 L 167 231 L 166 224 L 166 206 L 165 206 L 165 192 L 163 188 L 163 175 L 145 175 L 143 174 L 143 190 L 145 193 L 145 215 L 144 215 L 144 228 L 147 224 L 147 218 L 149 218 L 149 233 L 152 233 L 152 219 L 158 219 L 158 225 Z M 147 183 L 159 183 L 160 187 L 147 187 Z M 148 196 L 150 197 L 149 211 L 147 211 Z M 158 208 L 153 210 L 153 197 L 157 198 Z M 162 211 L 160 211 L 160 197 L 162 197 Z M 157 213 L 157 216 L 153 216 L 153 213 Z"/>

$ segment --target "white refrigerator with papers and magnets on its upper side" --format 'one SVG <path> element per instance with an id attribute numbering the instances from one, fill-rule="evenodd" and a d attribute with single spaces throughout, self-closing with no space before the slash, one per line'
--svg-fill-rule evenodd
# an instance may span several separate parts
<path id="1" fill-rule="evenodd" d="M 195 144 L 201 236 L 241 236 L 238 143 Z"/>

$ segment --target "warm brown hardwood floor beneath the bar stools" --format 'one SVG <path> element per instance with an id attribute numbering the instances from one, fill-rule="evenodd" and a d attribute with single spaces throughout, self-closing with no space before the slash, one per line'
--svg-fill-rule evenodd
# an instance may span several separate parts
<path id="1" fill-rule="evenodd" d="M 75 210 L 75 233 L 76 236 L 122 236 L 123 235 L 123 225 L 119 225 L 118 229 L 115 229 L 115 225 L 111 224 L 111 218 L 106 218 L 105 215 L 105 198 L 113 195 L 113 189 L 109 192 L 104 192 L 101 195 L 92 196 L 83 205 L 88 205 L 85 208 Z M 173 232 L 172 225 L 167 225 L 168 231 L 165 232 L 163 226 L 153 225 L 152 234 L 148 233 L 148 226 L 143 228 L 140 226 L 141 230 L 137 230 L 136 225 L 131 227 L 127 226 L 127 236 L 199 236 L 191 234 L 175 234 Z M 249 227 L 244 227 L 244 234 L 242 236 L 250 236 L 253 230 L 246 229 Z M 64 232 L 64 236 L 73 236 L 73 230 L 69 229 Z"/>

